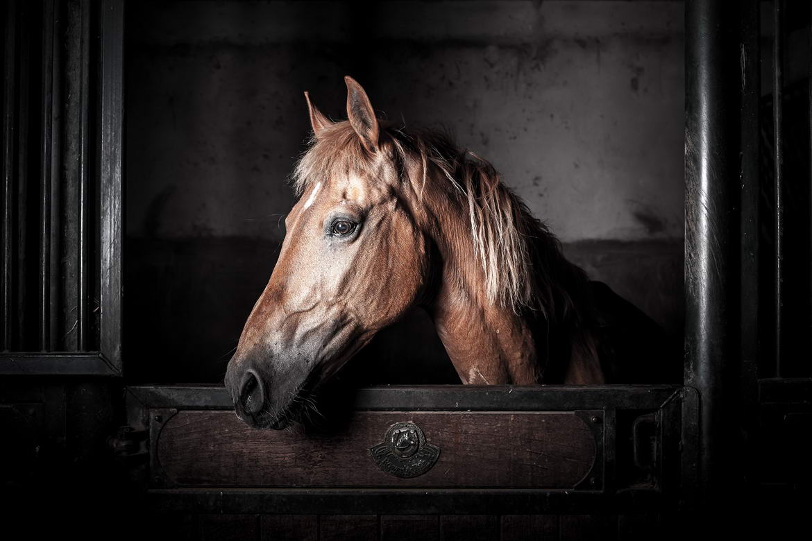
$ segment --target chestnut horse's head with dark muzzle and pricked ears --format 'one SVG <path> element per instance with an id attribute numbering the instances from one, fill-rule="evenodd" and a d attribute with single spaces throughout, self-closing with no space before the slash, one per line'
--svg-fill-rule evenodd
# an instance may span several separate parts
<path id="1" fill-rule="evenodd" d="M 313 141 L 296 168 L 300 199 L 270 281 L 228 364 L 236 414 L 257 427 L 296 418 L 338 371 L 421 294 L 429 241 L 405 204 L 403 167 L 361 85 L 346 79 L 348 120 L 305 98 Z"/>

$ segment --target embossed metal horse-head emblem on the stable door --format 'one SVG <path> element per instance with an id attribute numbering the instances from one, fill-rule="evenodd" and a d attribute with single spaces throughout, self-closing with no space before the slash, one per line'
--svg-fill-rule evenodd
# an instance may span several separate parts
<path id="1" fill-rule="evenodd" d="M 383 442 L 370 448 L 369 453 L 387 474 L 409 478 L 430 470 L 440 456 L 440 448 L 426 443 L 423 431 L 415 423 L 396 423 L 389 427 Z"/>

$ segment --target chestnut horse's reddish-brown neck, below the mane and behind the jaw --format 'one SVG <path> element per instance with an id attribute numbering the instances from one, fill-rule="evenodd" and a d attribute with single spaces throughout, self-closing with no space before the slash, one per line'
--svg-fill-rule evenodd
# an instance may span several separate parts
<path id="1" fill-rule="evenodd" d="M 596 342 L 581 324 L 585 276 L 559 251 L 551 234 L 538 239 L 533 251 L 544 255 L 555 283 L 545 284 L 550 303 L 544 311 L 521 311 L 489 302 L 483 284 L 469 218 L 451 200 L 435 205 L 428 229 L 442 264 L 438 287 L 428 306 L 438 336 L 466 384 L 598 384 L 603 375 Z M 428 222 L 427 222 L 428 223 Z"/>

